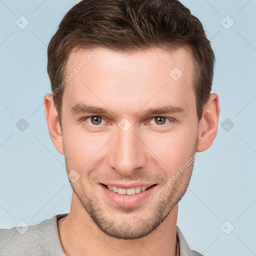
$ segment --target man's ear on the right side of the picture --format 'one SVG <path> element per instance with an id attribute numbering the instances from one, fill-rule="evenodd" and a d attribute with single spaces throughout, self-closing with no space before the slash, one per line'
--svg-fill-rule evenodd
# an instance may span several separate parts
<path id="1" fill-rule="evenodd" d="M 197 152 L 210 147 L 218 129 L 219 101 L 216 93 L 210 93 L 209 99 L 203 107 L 202 117 L 199 121 Z"/>

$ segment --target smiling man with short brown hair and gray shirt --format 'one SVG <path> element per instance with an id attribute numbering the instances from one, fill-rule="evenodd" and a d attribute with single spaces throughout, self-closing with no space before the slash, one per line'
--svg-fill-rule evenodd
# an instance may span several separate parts
<path id="1" fill-rule="evenodd" d="M 2 255 L 200 255 L 176 226 L 196 152 L 212 143 L 214 54 L 177 0 L 83 0 L 48 45 L 45 117 L 65 156 L 70 212 Z M 185 168 L 182 166 L 185 166 Z"/>

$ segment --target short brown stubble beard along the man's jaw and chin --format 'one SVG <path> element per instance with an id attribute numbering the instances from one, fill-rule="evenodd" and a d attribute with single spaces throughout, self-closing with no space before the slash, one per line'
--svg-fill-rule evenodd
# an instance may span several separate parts
<path id="1" fill-rule="evenodd" d="M 198 136 L 193 152 L 188 159 L 196 153 L 197 139 Z M 66 155 L 65 163 L 68 169 L 70 165 Z M 80 184 L 79 187 L 76 185 L 77 183 L 69 182 L 82 207 L 102 232 L 119 239 L 137 239 L 148 235 L 159 226 L 185 194 L 192 174 L 193 163 L 192 161 L 192 164 L 154 202 L 148 200 L 148 204 L 141 209 L 141 212 L 147 212 L 146 215 L 140 211 L 134 214 L 135 208 L 132 207 L 119 207 L 120 212 L 125 215 L 119 218 L 115 217 L 82 183 L 77 182 Z M 153 209 L 152 204 L 154 205 Z M 148 206 L 150 206 L 150 210 L 146 209 Z"/>

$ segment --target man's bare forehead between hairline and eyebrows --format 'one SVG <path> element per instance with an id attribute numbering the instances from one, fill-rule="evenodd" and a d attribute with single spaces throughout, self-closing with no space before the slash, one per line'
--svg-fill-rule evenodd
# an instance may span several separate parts
<path id="1" fill-rule="evenodd" d="M 176 50 L 149 48 L 116 52 L 107 48 L 75 48 L 70 53 L 63 103 L 127 107 L 138 110 L 147 104 L 195 105 L 193 57 L 189 47 Z M 147 103 L 148 102 L 148 103 Z"/>

